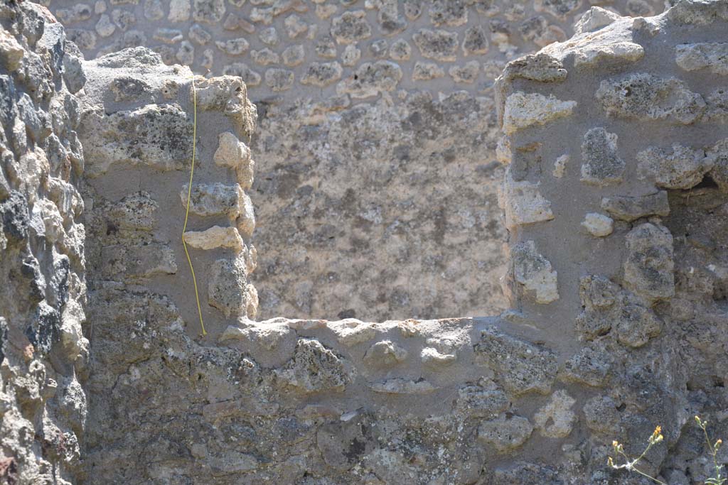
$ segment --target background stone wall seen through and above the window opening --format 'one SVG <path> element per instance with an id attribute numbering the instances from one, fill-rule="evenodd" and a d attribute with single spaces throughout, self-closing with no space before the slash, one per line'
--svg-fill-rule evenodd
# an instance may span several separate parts
<path id="1" fill-rule="evenodd" d="M 87 59 L 147 46 L 258 105 L 260 316 L 498 313 L 494 78 L 593 5 L 663 0 L 47 0 Z"/>

